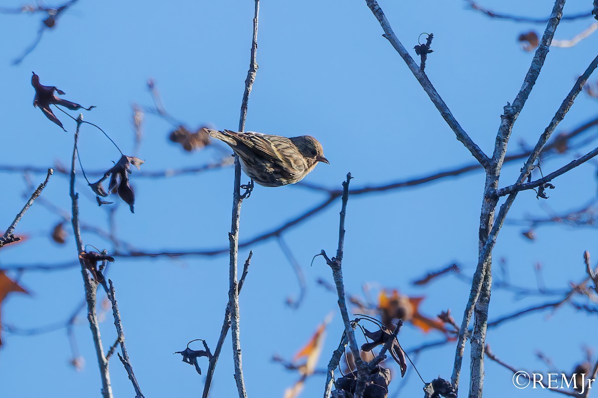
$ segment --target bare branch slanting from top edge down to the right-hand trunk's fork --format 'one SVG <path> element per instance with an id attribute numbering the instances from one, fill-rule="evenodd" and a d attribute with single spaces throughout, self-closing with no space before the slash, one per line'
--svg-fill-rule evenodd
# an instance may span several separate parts
<path id="1" fill-rule="evenodd" d="M 443 99 L 440 97 L 440 94 L 438 94 L 432 85 L 432 82 L 430 82 L 428 79 L 428 76 L 419 68 L 419 66 L 416 65 L 413 58 L 411 58 L 407 50 L 405 50 L 405 47 L 403 47 L 399 39 L 396 37 L 395 32 L 393 32 L 392 27 L 390 27 L 390 23 L 388 22 L 388 19 L 386 19 L 382 8 L 380 8 L 378 5 L 378 2 L 376 0 L 365 0 L 365 2 L 367 3 L 368 7 L 370 7 L 372 13 L 374 13 L 374 16 L 376 16 L 380 26 L 382 26 L 382 29 L 385 33 L 383 36 L 388 39 L 390 44 L 392 44 L 392 47 L 395 48 L 396 52 L 399 53 L 405 63 L 407 63 L 407 66 L 409 69 L 411 69 L 411 72 L 416 77 L 417 81 L 419 81 L 419 84 L 422 85 L 423 90 L 426 91 L 432 100 L 432 103 L 434 103 L 438 109 L 438 112 L 440 112 L 441 116 L 444 118 L 447 124 L 449 124 L 449 127 L 454 131 L 455 135 L 457 136 L 457 140 L 462 142 L 463 145 L 465 145 L 465 148 L 469 149 L 469 152 L 471 152 L 477 161 L 484 166 L 484 169 L 487 169 L 490 166 L 490 159 L 471 140 L 465 130 L 463 130 L 457 120 L 453 117 L 453 114 L 451 114 L 449 107 L 446 105 L 446 103 L 444 103 Z"/>

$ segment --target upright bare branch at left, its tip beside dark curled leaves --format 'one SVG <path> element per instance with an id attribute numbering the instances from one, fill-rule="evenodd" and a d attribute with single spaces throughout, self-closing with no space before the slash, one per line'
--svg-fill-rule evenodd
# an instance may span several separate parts
<path id="1" fill-rule="evenodd" d="M 73 155 L 71 163 L 71 201 L 72 201 L 72 226 L 77 241 L 77 255 L 83 252 L 83 239 L 81 238 L 81 226 L 79 225 L 79 194 L 75 193 L 75 169 L 77 167 L 77 144 L 79 141 L 79 130 L 83 123 L 83 115 L 77 118 L 77 131 L 75 131 L 75 144 L 73 146 Z M 91 335 L 93 336 L 93 344 L 96 349 L 97 365 L 100 369 L 100 376 L 102 378 L 102 397 L 112 398 L 112 387 L 110 385 L 110 373 L 108 371 L 108 360 L 104 355 L 102 347 L 102 336 L 100 335 L 100 326 L 97 321 L 96 314 L 96 293 L 97 282 L 91 278 L 87 272 L 83 260 L 81 262 L 81 275 L 83 275 L 83 286 L 85 288 L 85 299 L 87 302 L 87 319 L 89 320 L 89 327 Z"/>

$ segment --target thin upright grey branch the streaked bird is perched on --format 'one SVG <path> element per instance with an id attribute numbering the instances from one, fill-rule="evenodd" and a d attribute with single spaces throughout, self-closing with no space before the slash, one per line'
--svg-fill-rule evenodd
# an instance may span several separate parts
<path id="1" fill-rule="evenodd" d="M 247 104 L 249 93 L 255 81 L 258 65 L 255 56 L 258 49 L 258 16 L 260 13 L 260 0 L 255 0 L 254 16 L 254 35 L 251 44 L 251 60 L 249 62 L 249 71 L 245 79 L 245 92 L 241 103 L 241 116 L 239 120 L 239 131 L 245 131 L 245 120 L 247 117 Z M 241 164 L 239 156 L 234 155 L 234 191 L 233 191 L 233 218 L 231 222 L 230 234 L 230 268 L 229 268 L 229 288 L 228 288 L 228 313 L 231 318 L 231 329 L 233 336 L 233 360 L 234 360 L 234 379 L 237 382 L 239 397 L 246 398 L 245 380 L 243 379 L 243 362 L 241 357 L 240 341 L 240 316 L 239 316 L 239 283 L 237 281 L 237 256 L 239 252 L 239 219 L 241 215 L 241 203 L 243 197 L 240 193 L 241 186 Z"/>

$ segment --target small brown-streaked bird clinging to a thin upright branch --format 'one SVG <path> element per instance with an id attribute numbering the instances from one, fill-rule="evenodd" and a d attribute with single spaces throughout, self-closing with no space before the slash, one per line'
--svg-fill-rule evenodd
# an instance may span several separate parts
<path id="1" fill-rule="evenodd" d="M 287 138 L 230 130 L 208 130 L 208 133 L 233 148 L 245 174 L 263 186 L 294 184 L 318 162 L 330 164 L 322 145 L 312 136 Z"/>

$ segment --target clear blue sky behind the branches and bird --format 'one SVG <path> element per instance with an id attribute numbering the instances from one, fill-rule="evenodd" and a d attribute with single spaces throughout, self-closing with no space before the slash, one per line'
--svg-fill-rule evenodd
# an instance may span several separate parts
<path id="1" fill-rule="evenodd" d="M 544 1 L 495 3 L 484 5 L 495 11 L 536 17 L 548 16 L 552 7 Z M 3 4 L 20 5 L 14 0 Z M 381 1 L 380 6 L 405 47 L 417 44 L 422 32 L 434 33 L 435 52 L 428 58 L 426 73 L 469 136 L 484 152 L 491 153 L 502 107 L 514 99 L 533 56 L 519 48 L 516 38 L 532 29 L 541 32 L 544 26 L 491 20 L 460 1 Z M 589 2 L 571 2 L 565 13 L 589 8 Z M 102 127 L 125 154 L 133 151 L 132 104 L 151 105 L 148 78 L 155 80 L 166 109 L 188 127 L 209 123 L 235 130 L 249 65 L 253 10 L 253 1 L 80 1 L 18 66 L 12 66 L 11 61 L 35 38 L 40 16 L 0 14 L 0 36 L 5 38 L 0 56 L 0 74 L 4 76 L 0 166 L 69 164 L 75 124 L 56 112 L 69 131 L 65 133 L 32 107 L 32 71 L 42 84 L 65 91 L 66 99 L 97 106 L 84 112 L 85 119 Z M 563 22 L 556 38 L 569 39 L 592 22 Z M 351 172 L 355 177 L 351 184 L 358 188 L 425 176 L 474 161 L 382 33 L 365 1 L 261 3 L 260 69 L 249 99 L 246 126 L 263 133 L 317 137 L 331 165 L 316 167 L 306 182 L 340 188 L 346 173 Z M 594 56 L 596 35 L 572 48 L 551 49 L 538 84 L 515 124 L 509 151 L 518 151 L 523 142 L 535 144 Z M 580 95 L 557 132 L 593 119 L 595 112 L 596 99 Z M 78 112 L 71 114 L 76 117 Z M 138 156 L 146 161 L 144 171 L 201 166 L 221 155 L 213 150 L 182 151 L 167 140 L 172 125 L 154 115 L 145 115 L 143 128 Z M 590 142 L 579 153 L 595 145 Z M 119 157 L 118 151 L 89 125 L 81 131 L 80 152 L 87 170 L 108 169 Z M 547 160 L 542 170 L 550 173 L 574 156 Z M 520 163 L 505 167 L 501 186 L 511 185 L 520 167 Z M 37 184 L 44 176 L 29 177 Z M 123 203 L 116 204 L 117 232 L 122 240 L 147 251 L 227 247 L 233 169 L 162 179 L 138 178 L 133 170 L 131 178 L 136 189 L 136 213 L 131 214 Z M 25 201 L 23 194 L 30 192 L 21 173 L 0 171 L 0 182 L 4 187 L 0 225 L 8 226 Z M 422 311 L 426 314 L 434 316 L 451 308 L 460 322 L 469 294 L 467 283 L 446 277 L 421 288 L 410 282 L 451 262 L 457 262 L 464 275 L 472 275 L 483 184 L 483 173 L 477 172 L 413 189 L 350 198 L 343 261 L 347 292 L 360 294 L 363 284 L 371 283 L 408 295 L 423 295 Z M 583 206 L 596 195 L 596 164 L 585 164 L 555 180 L 554 185 L 548 201 L 536 200 L 533 192 L 520 194 L 509 220 L 545 216 L 545 206 L 557 213 Z M 81 219 L 106 228 L 105 209 L 97 207 L 84 183 L 77 189 L 81 192 Z M 68 179 L 53 176 L 42 198 L 68 210 Z M 240 241 L 269 231 L 324 199 L 321 192 L 300 186 L 258 186 L 243 203 Z M 337 201 L 284 234 L 307 281 L 306 298 L 296 310 L 285 305 L 286 298 L 297 297 L 299 290 L 276 241 L 251 247 L 252 268 L 240 299 L 250 396 L 282 396 L 297 375 L 271 362 L 271 357 L 278 353 L 290 359 L 331 312 L 335 315 L 328 327 L 321 368 L 340 339 L 342 324 L 335 296 L 316 284 L 318 278 L 331 282 L 331 272 L 321 258 L 310 267 L 320 250 L 334 253 L 339 210 Z M 61 220 L 59 213 L 36 203 L 17 228 L 17 232 L 30 235 L 29 240 L 3 249 L 0 267 L 76 259 L 72 234 L 63 246 L 50 240 L 51 228 Z M 585 276 L 583 251 L 598 253 L 596 231 L 591 228 L 544 226 L 536 231 L 536 241 L 522 238 L 524 229 L 506 225 L 494 255 L 495 259 L 506 259 L 511 280 L 518 286 L 536 286 L 534 266 L 539 263 L 548 287 L 566 289 L 569 281 Z M 108 241 L 89 233 L 84 234 L 84 241 L 100 249 L 111 247 Z M 248 248 L 240 251 L 240 258 L 247 255 Z M 144 393 L 199 395 L 202 376 L 172 353 L 196 338 L 215 346 L 227 302 L 228 257 L 117 258 L 109 278 L 117 289 L 127 348 Z M 20 283 L 32 295 L 7 299 L 2 307 L 5 325 L 29 328 L 60 322 L 83 298 L 76 267 L 26 272 Z M 492 296 L 490 318 L 548 300 L 514 299 L 510 293 L 497 290 Z M 557 368 L 572 371 L 583 359 L 581 347 L 591 344 L 591 331 L 596 326 L 596 317 L 565 307 L 554 314 L 535 314 L 493 329 L 488 341 L 497 356 L 515 367 L 547 370 L 535 357 L 541 350 Z M 105 344 L 111 344 L 115 332 L 110 314 L 106 314 L 101 329 Z M 74 330 L 86 361 L 82 372 L 68 363 L 71 351 L 64 329 L 36 336 L 5 332 L 0 351 L 3 395 L 99 394 L 96 360 L 84 316 L 79 317 Z M 423 335 L 407 325 L 399 337 L 407 348 L 435 341 L 441 335 Z M 236 393 L 231 382 L 230 342 L 224 348 L 216 368 L 215 396 Z M 449 378 L 453 355 L 453 345 L 446 345 L 426 351 L 416 365 L 426 381 L 439 374 Z M 200 365 L 207 369 L 207 362 Z M 468 372 L 468 363 L 464 371 Z M 33 372 L 35 382 L 31 382 Z M 133 393 L 118 360 L 111 362 L 111 376 L 116 397 Z M 401 383 L 395 376 L 391 395 Z M 533 395 L 513 388 L 511 374 L 495 363 L 486 365 L 486 386 L 489 397 L 505 392 Z M 321 394 L 323 387 L 324 378 L 315 376 L 307 382 L 303 396 Z M 421 388 L 412 374 L 403 394 L 420 394 Z"/>

